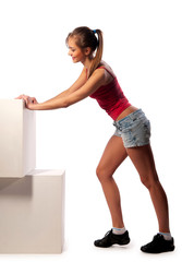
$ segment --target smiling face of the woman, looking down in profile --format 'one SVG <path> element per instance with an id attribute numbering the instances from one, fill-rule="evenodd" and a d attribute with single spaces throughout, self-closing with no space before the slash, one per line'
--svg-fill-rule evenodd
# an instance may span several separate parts
<path id="1" fill-rule="evenodd" d="M 69 56 L 72 57 L 73 62 L 83 63 L 86 59 L 86 56 L 84 55 L 83 50 L 78 46 L 76 46 L 75 39 L 73 37 L 70 37 L 68 44 L 69 44 Z"/>

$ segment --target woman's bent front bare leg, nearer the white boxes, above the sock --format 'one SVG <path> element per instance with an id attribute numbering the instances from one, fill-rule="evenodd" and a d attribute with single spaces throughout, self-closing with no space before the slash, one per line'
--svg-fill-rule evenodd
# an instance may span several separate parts
<path id="1" fill-rule="evenodd" d="M 120 192 L 112 175 L 126 156 L 122 139 L 113 135 L 104 151 L 96 171 L 111 213 L 112 226 L 118 228 L 124 227 L 124 223 Z"/>

